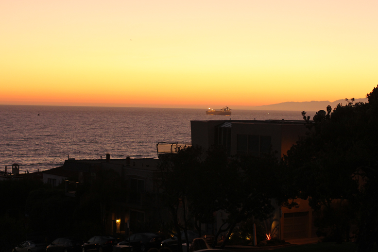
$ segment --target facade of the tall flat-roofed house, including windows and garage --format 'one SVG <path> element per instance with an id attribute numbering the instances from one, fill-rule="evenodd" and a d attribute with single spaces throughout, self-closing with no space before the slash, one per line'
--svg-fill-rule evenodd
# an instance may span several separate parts
<path id="1" fill-rule="evenodd" d="M 281 158 L 307 132 L 303 121 L 294 120 L 207 120 L 191 121 L 190 126 L 193 146 L 206 150 L 211 145 L 223 145 L 230 157 L 258 156 L 272 150 Z M 316 236 L 308 201 L 296 199 L 295 202 L 297 206 L 292 209 L 276 205 L 273 217 L 265 223 L 267 233 L 280 239 Z M 224 213 L 217 213 L 216 226 L 222 224 L 222 215 Z"/>

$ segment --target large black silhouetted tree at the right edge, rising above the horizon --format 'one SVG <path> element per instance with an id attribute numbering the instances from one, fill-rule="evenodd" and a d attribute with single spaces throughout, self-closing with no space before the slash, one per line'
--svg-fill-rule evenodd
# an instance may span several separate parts
<path id="1" fill-rule="evenodd" d="M 309 134 L 284 158 L 299 196 L 309 197 L 313 208 L 327 209 L 338 242 L 344 223 L 334 212 L 335 203 L 347 202 L 344 220 L 359 214 L 361 252 L 370 251 L 378 237 L 378 87 L 367 98 L 367 103 L 347 100 L 332 112 L 327 107 L 328 113 L 316 114 L 313 122 L 303 113 Z"/>

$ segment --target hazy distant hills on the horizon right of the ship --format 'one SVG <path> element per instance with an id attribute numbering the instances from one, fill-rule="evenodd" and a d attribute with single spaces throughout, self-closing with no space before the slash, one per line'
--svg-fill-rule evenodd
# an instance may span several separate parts
<path id="1" fill-rule="evenodd" d="M 367 98 L 361 98 L 356 99 L 354 102 L 367 102 Z M 302 102 L 296 102 L 296 101 L 287 101 L 287 102 L 281 102 L 277 104 L 271 104 L 271 105 L 262 105 L 262 106 L 256 106 L 254 109 L 258 110 L 294 110 L 294 111 L 318 111 L 318 110 L 326 110 L 327 105 L 331 105 L 332 109 L 334 109 L 337 104 L 345 104 L 345 99 L 343 100 L 337 100 L 337 101 L 302 101 Z"/>

